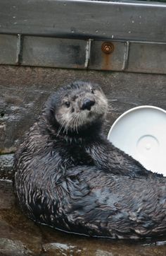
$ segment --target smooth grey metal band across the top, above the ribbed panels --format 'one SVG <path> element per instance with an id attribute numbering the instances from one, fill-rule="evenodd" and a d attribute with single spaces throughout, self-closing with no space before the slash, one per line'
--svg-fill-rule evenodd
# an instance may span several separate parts
<path id="1" fill-rule="evenodd" d="M 166 41 L 166 4 L 141 1 L 1 0 L 0 33 Z"/>

